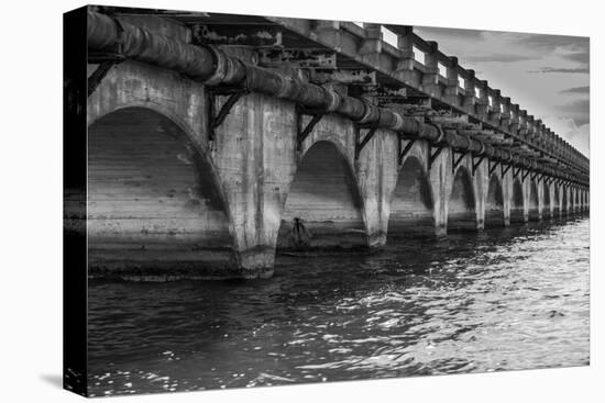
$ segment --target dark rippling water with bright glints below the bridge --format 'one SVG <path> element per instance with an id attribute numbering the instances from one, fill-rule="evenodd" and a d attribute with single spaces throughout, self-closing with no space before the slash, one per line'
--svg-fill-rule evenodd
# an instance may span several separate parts
<path id="1" fill-rule="evenodd" d="M 91 282 L 90 393 L 588 363 L 588 220 L 279 256 L 241 282 Z"/>

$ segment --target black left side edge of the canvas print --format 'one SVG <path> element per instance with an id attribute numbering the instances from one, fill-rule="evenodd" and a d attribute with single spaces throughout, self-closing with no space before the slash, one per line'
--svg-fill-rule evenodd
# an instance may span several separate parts
<path id="1" fill-rule="evenodd" d="M 86 8 L 63 18 L 63 387 L 87 395 Z"/>

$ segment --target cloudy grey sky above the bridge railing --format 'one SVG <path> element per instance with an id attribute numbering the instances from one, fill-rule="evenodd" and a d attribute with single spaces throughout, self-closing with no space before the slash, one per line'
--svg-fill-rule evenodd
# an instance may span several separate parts
<path id="1" fill-rule="evenodd" d="M 415 26 L 588 157 L 590 45 L 582 36 Z"/>

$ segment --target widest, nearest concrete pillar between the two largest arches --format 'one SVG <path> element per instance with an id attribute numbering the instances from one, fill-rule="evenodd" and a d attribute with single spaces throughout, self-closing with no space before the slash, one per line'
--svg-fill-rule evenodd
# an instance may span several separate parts
<path id="1" fill-rule="evenodd" d="M 240 277 L 273 272 L 280 213 L 296 169 L 294 104 L 249 94 L 216 131 L 212 158 L 232 217 Z"/>

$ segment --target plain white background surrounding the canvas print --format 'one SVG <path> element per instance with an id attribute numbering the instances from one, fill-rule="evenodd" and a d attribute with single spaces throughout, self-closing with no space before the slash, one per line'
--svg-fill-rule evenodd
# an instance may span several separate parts
<path id="1" fill-rule="evenodd" d="M 78 1 L 3 2 L 0 68 L 0 401 L 73 402 L 62 379 L 62 13 Z M 271 0 L 110 4 L 591 36 L 591 366 L 506 373 L 108 398 L 128 402 L 605 401 L 603 99 L 605 12 L 598 1 Z M 603 157 L 602 157 L 603 158 Z M 603 178 L 603 177 L 601 177 Z M 603 179 L 601 179 L 603 180 Z M 601 249 L 598 247 L 601 243 Z M 601 292 L 598 292 L 598 291 Z M 600 318 L 601 316 L 601 318 Z M 601 339 L 601 344 L 598 340 Z M 103 400 L 106 401 L 106 400 Z"/>

